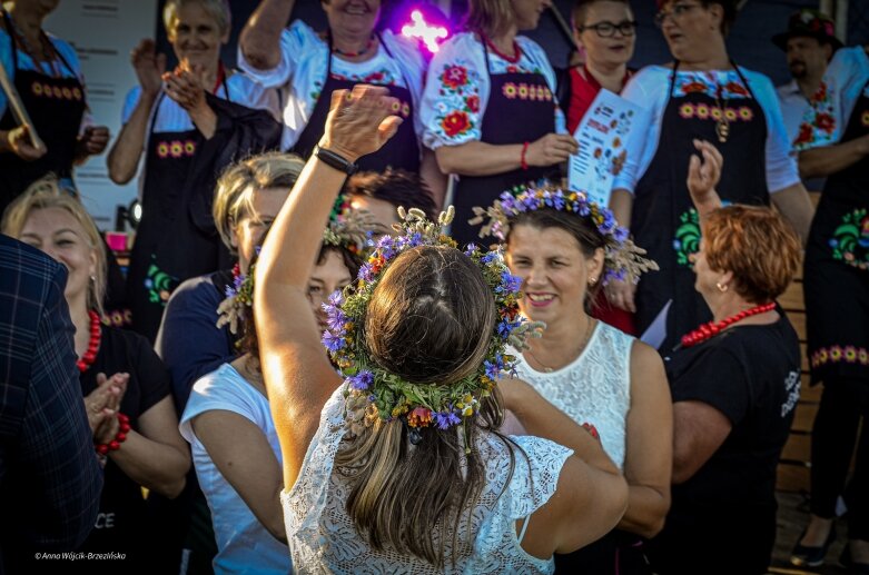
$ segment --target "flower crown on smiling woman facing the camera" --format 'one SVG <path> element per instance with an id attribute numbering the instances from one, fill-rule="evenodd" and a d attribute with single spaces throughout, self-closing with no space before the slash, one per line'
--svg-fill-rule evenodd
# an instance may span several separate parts
<path id="1" fill-rule="evenodd" d="M 510 234 L 511 220 L 521 214 L 541 209 L 575 214 L 594 224 L 605 242 L 605 271 L 602 278 L 604 285 L 613 279 L 636 284 L 642 274 L 659 269 L 658 264 L 643 257 L 645 250 L 628 237 L 628 230 L 616 224 L 612 211 L 590 201 L 585 194 L 577 191 L 550 187 L 529 188 L 515 196 L 505 191 L 488 208 L 475 207 L 475 217 L 470 222 L 477 225 L 488 219 L 480 230 L 480 237 L 495 236 L 504 241 Z"/>

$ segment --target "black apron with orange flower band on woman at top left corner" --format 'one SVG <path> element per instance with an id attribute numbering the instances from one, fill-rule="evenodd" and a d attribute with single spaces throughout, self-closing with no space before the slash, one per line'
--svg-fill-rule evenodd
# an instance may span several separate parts
<path id="1" fill-rule="evenodd" d="M 58 63 L 72 73 L 71 78 L 56 78 L 39 70 L 18 68 L 18 48 L 12 32 L 12 22 L 4 11 L 2 18 L 12 46 L 16 90 L 48 151 L 33 161 L 22 160 L 12 152 L 0 153 L 0 174 L 3 175 L 0 178 L 0 214 L 30 184 L 46 174 L 53 172 L 59 178 L 72 177 L 81 118 L 87 108 L 85 87 L 76 76 L 76 70 L 57 49 L 55 53 L 58 56 Z M 50 43 L 45 32 L 42 37 L 43 41 Z M 38 62 L 34 63 L 39 66 Z M 17 126 L 12 107 L 8 103 L 6 113 L 0 119 L 0 130 L 11 130 Z"/>

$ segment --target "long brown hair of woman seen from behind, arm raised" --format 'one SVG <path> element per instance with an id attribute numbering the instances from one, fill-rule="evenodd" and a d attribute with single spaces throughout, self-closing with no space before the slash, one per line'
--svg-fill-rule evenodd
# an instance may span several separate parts
<path id="1" fill-rule="evenodd" d="M 375 288 L 364 335 L 372 358 L 417 385 L 450 385 L 474 373 L 487 351 L 495 305 L 482 272 L 461 251 L 421 247 L 398 256 Z M 497 434 L 501 396 L 481 400 L 480 414 L 461 428 L 426 428 L 411 445 L 401 419 L 377 420 L 346 442 L 335 458 L 350 480 L 347 513 L 376 549 L 391 546 L 443 567 L 473 549 L 468 528 L 486 477 L 474 448 L 481 429 Z M 465 447 L 471 453 L 465 454 Z M 505 484 L 506 485 L 506 484 Z M 463 512 L 466 512 L 465 515 Z M 464 533 L 466 538 L 460 539 Z"/>

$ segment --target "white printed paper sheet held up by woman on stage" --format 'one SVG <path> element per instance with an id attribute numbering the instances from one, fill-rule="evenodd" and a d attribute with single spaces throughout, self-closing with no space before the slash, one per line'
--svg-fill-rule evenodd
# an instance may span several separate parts
<path id="1" fill-rule="evenodd" d="M 648 117 L 645 109 L 610 90 L 598 92 L 573 133 L 580 151 L 570 158 L 567 187 L 608 206 L 613 180 L 624 166 L 629 146 L 633 150 L 642 149 L 633 140 L 642 138 Z"/>

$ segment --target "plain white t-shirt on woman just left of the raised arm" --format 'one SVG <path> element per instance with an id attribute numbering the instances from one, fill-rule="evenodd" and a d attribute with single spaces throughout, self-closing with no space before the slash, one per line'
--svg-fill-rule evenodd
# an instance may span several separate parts
<path id="1" fill-rule="evenodd" d="M 289 549 L 259 523 L 194 433 L 191 420 L 215 410 L 231 412 L 253 422 L 268 439 L 278 464 L 283 460 L 268 399 L 233 366 L 224 364 L 196 381 L 178 429 L 192 448 L 196 477 L 211 509 L 218 548 L 215 572 L 287 574 L 292 568 Z M 280 503 L 275 500 L 275 505 Z"/>

